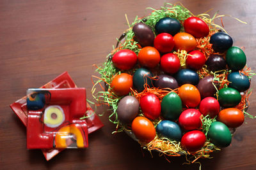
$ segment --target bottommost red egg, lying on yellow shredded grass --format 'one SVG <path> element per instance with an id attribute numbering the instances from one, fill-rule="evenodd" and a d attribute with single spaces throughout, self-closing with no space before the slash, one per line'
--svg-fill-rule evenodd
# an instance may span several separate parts
<path id="1" fill-rule="evenodd" d="M 205 134 L 201 131 L 189 131 L 186 132 L 181 138 L 181 146 L 189 152 L 195 152 L 200 150 L 206 141 Z"/>

